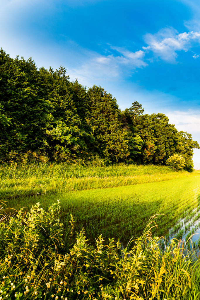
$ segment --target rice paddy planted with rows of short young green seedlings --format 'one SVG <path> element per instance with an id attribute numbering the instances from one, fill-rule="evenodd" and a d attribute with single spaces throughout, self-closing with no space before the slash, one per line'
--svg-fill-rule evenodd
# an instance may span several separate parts
<path id="1" fill-rule="evenodd" d="M 139 236 L 149 218 L 157 216 L 158 229 L 164 235 L 181 217 L 189 217 L 199 207 L 200 182 L 196 175 L 165 182 L 154 182 L 125 187 L 56 194 L 61 201 L 61 218 L 74 217 L 75 230 L 82 227 L 91 241 L 100 234 L 126 243 L 133 235 Z M 44 207 L 54 202 L 55 196 L 45 195 L 10 199 L 8 206 L 30 208 L 38 200 Z M 177 229 L 180 224 L 177 225 Z"/>

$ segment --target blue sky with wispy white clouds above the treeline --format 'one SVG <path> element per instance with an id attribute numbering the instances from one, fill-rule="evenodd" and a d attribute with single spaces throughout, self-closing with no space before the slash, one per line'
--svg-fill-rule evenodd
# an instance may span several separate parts
<path id="1" fill-rule="evenodd" d="M 138 101 L 200 143 L 200 1 L 0 0 L 0 46 Z M 193 160 L 199 163 L 200 150 Z"/>

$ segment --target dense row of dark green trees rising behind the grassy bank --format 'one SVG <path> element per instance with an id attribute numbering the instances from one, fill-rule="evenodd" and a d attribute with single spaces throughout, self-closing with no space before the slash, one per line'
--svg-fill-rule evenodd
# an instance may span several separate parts
<path id="1" fill-rule="evenodd" d="M 175 153 L 193 170 L 199 144 L 162 113 L 133 102 L 121 111 L 102 87 L 71 82 L 64 67 L 37 69 L 0 50 L 0 161 L 165 164 Z"/>

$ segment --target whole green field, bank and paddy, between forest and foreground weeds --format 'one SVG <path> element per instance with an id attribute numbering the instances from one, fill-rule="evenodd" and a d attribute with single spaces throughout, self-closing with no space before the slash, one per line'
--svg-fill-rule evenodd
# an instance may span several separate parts
<path id="1" fill-rule="evenodd" d="M 74 232 L 84 228 L 92 243 L 102 234 L 106 241 L 115 238 L 127 244 L 142 234 L 155 214 L 158 227 L 153 234 L 159 236 L 180 236 L 185 220 L 194 217 L 195 232 L 200 225 L 198 171 L 177 173 L 163 166 L 41 164 L 2 166 L 0 175 L 0 195 L 6 201 L 7 213 L 22 207 L 28 211 L 36 202 L 47 209 L 59 199 L 61 220 L 69 220 L 72 214 Z M 191 230 L 190 224 L 188 232 Z"/>

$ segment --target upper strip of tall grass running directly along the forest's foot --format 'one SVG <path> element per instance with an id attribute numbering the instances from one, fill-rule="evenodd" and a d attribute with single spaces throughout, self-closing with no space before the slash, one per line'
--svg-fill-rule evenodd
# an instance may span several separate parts
<path id="1" fill-rule="evenodd" d="M 85 178 L 115 177 L 174 173 L 166 166 L 113 164 L 108 166 L 82 166 L 67 163 L 53 164 L 4 164 L 0 166 L 0 177 L 5 179 L 46 178 Z M 177 173 L 176 173 L 177 174 Z"/>

